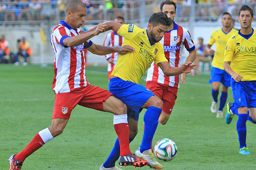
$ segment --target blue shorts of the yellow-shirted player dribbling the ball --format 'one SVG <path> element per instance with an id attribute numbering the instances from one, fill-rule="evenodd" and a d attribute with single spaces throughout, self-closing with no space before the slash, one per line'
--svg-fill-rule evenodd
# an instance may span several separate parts
<path id="1" fill-rule="evenodd" d="M 109 91 L 117 98 L 122 100 L 128 108 L 139 112 L 140 108 L 154 93 L 142 85 L 134 82 L 125 81 L 119 77 L 109 80 Z"/>

